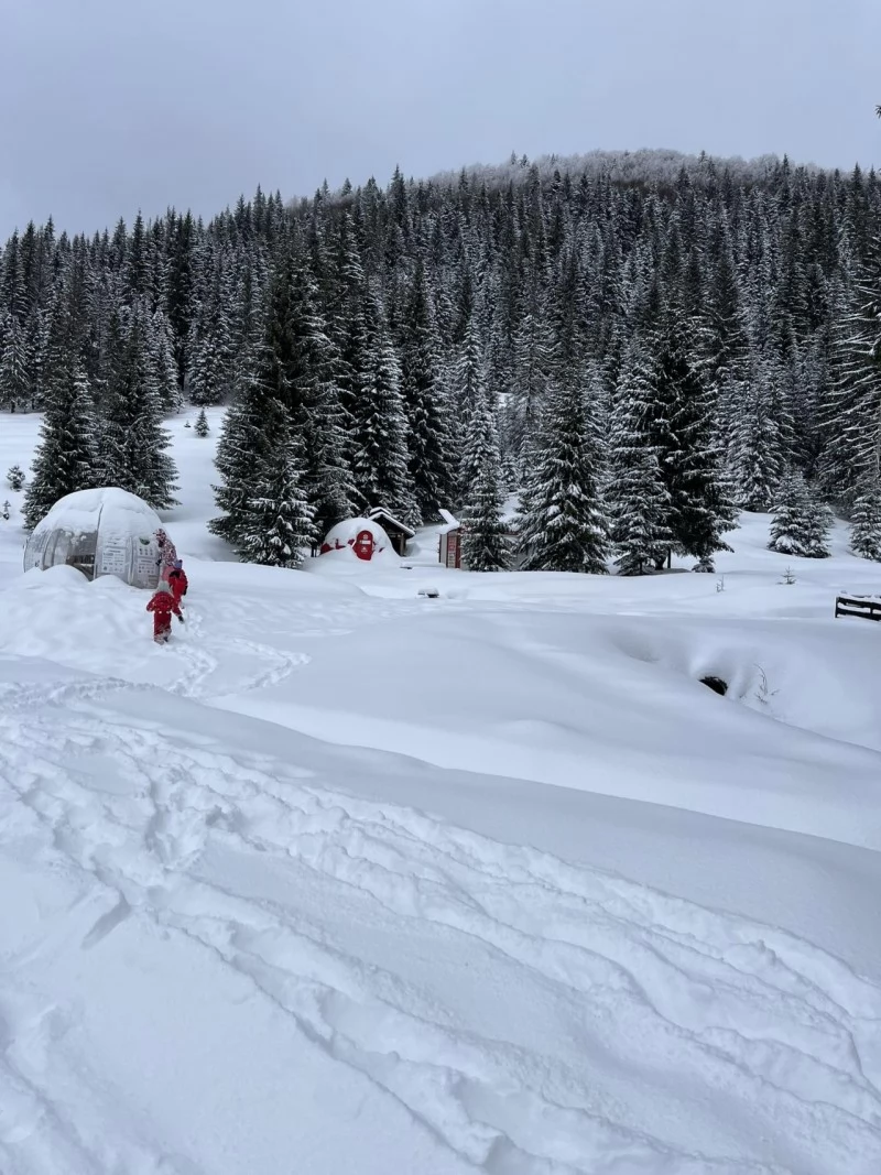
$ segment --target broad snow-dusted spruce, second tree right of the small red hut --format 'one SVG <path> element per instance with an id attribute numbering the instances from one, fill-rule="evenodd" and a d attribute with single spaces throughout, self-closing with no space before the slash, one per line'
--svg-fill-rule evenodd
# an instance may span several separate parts
<path id="1" fill-rule="evenodd" d="M 533 465 L 520 495 L 519 545 L 526 571 L 606 571 L 607 524 L 600 462 L 584 389 L 547 396 Z"/>

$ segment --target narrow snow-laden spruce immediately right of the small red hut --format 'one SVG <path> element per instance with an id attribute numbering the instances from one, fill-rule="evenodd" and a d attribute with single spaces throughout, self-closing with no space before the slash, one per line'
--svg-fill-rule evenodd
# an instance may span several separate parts
<path id="1" fill-rule="evenodd" d="M 511 562 L 511 543 L 503 517 L 502 481 L 496 411 L 484 394 L 471 418 L 465 464 L 471 471 L 462 512 L 462 555 L 469 571 L 504 571 Z"/>

